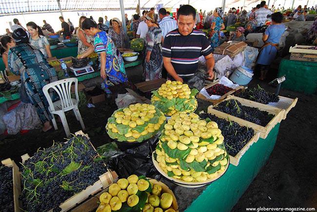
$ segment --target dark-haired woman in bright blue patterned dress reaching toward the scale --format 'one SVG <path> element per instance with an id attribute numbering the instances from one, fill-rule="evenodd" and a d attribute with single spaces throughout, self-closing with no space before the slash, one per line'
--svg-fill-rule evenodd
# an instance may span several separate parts
<path id="1" fill-rule="evenodd" d="M 81 28 L 87 35 L 94 36 L 94 46 L 89 47 L 79 58 L 86 58 L 94 51 L 99 55 L 100 76 L 104 79 L 101 87 L 107 94 L 111 94 L 109 90 L 110 86 L 128 81 L 123 58 L 113 40 L 106 32 L 98 29 L 97 23 L 94 20 L 85 19 L 81 23 Z"/>

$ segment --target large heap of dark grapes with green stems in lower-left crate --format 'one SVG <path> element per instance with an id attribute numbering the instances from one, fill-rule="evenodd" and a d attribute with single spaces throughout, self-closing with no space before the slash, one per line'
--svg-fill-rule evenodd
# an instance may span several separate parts
<path id="1" fill-rule="evenodd" d="M 84 136 L 40 150 L 22 164 L 23 209 L 60 211 L 59 205 L 86 189 L 107 172 L 107 167 Z"/>

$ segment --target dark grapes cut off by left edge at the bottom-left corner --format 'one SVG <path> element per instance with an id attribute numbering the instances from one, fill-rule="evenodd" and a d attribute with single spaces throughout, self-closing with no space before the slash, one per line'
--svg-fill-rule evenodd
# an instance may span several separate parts
<path id="1" fill-rule="evenodd" d="M 14 212 L 12 168 L 0 166 L 0 209 Z"/>

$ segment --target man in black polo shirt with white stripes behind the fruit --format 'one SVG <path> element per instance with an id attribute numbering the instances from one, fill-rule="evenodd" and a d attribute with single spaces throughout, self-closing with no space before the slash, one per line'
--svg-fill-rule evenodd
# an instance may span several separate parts
<path id="1" fill-rule="evenodd" d="M 178 9 L 178 29 L 169 32 L 163 43 L 163 63 L 168 77 L 187 82 L 198 72 L 200 56 L 206 59 L 209 78 L 214 77 L 215 59 L 209 40 L 204 33 L 194 29 L 196 11 L 191 5 Z"/>

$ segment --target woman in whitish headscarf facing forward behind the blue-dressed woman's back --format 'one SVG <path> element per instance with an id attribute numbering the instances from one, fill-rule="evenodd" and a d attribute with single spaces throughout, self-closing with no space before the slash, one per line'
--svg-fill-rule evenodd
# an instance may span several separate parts
<path id="1" fill-rule="evenodd" d="M 109 37 L 114 41 L 117 48 L 124 47 L 125 34 L 122 29 L 121 21 L 118 18 L 111 19 L 112 28 L 109 29 Z"/>

